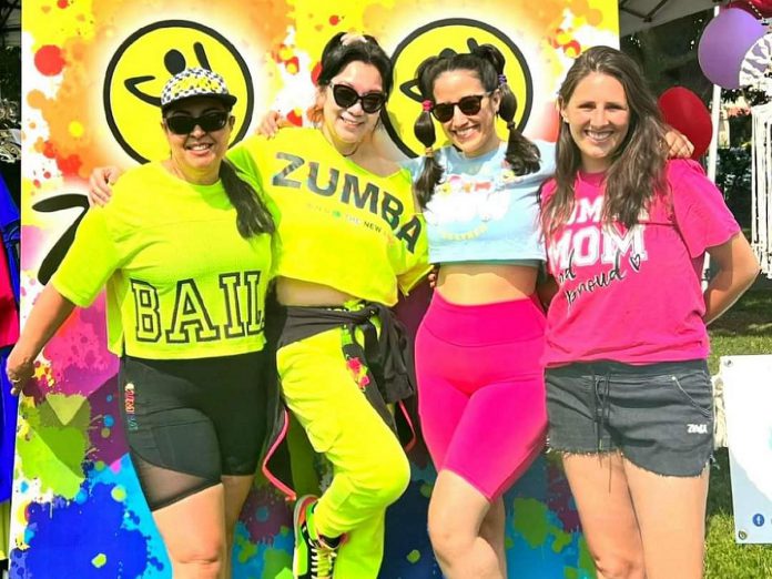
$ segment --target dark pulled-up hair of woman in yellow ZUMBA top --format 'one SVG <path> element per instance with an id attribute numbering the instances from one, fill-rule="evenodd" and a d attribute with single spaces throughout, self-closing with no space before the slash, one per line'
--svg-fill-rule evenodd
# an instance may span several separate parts
<path id="1" fill-rule="evenodd" d="M 378 41 L 369 34 L 360 38 L 344 39 L 346 32 L 338 32 L 331 38 L 322 51 L 319 75 L 316 79 L 317 87 L 327 87 L 333 77 L 345 69 L 352 62 L 372 64 L 380 73 L 383 91 L 388 96 L 394 85 L 394 64 Z M 363 40 L 364 39 L 364 40 Z M 345 41 L 345 43 L 344 43 Z M 384 119 L 386 108 L 380 109 L 380 119 Z M 308 110 L 308 118 L 318 122 L 322 119 L 322 110 L 314 105 Z"/>

